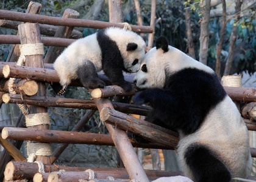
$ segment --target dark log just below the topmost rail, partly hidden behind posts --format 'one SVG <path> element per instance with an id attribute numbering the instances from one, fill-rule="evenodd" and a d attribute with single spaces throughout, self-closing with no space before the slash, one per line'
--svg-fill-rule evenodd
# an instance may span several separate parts
<path id="1" fill-rule="evenodd" d="M 21 23 L 23 22 L 0 19 L 0 27 L 4 27 L 7 29 L 18 30 L 18 25 L 20 25 Z M 56 30 L 58 29 L 58 27 L 54 25 L 46 25 L 46 24 L 38 24 L 38 25 L 39 25 L 41 35 L 54 36 Z M 69 36 L 69 38 L 71 39 L 80 39 L 82 37 L 83 37 L 83 33 L 79 32 L 78 30 L 73 30 L 71 32 L 71 35 Z"/>

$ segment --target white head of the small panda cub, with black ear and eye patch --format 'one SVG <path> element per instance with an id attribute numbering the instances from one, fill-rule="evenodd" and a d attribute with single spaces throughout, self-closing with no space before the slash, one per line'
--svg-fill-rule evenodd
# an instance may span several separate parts
<path id="1" fill-rule="evenodd" d="M 145 55 L 146 43 L 144 39 L 135 32 L 110 27 L 106 34 L 116 42 L 123 57 L 124 70 L 130 73 L 140 70 L 140 63 Z"/>

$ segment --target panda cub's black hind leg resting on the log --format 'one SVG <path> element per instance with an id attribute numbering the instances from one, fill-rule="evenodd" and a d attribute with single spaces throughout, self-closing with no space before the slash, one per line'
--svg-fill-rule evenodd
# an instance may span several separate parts
<path id="1" fill-rule="evenodd" d="M 88 89 L 104 88 L 105 83 L 96 72 L 96 68 L 91 61 L 85 61 L 85 63 L 78 67 L 77 75 L 79 76 L 80 82 L 84 87 Z"/>

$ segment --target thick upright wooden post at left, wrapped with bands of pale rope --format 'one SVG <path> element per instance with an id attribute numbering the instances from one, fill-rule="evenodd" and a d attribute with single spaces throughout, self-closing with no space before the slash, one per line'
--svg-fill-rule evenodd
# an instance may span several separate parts
<path id="1" fill-rule="evenodd" d="M 41 43 L 41 35 L 38 24 L 25 23 L 18 25 L 20 33 L 21 44 L 38 44 Z M 28 55 L 26 56 L 26 66 L 29 67 L 41 67 L 43 68 L 43 55 Z M 38 96 L 46 96 L 46 88 L 44 83 L 38 83 Z M 30 106 L 29 114 L 34 113 L 47 113 L 47 107 Z M 37 129 L 49 129 L 48 124 L 42 124 L 38 126 L 31 126 Z M 38 161 L 49 164 L 51 162 L 49 156 L 37 156 Z"/>

